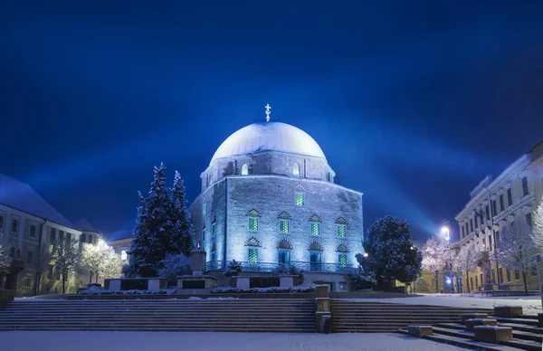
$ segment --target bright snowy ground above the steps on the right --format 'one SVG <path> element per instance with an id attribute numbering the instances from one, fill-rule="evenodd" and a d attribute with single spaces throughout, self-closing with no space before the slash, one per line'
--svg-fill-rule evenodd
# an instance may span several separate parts
<path id="1" fill-rule="evenodd" d="M 365 302 L 390 302 L 411 305 L 436 305 L 457 308 L 494 308 L 495 306 L 521 306 L 522 312 L 535 315 L 541 312 L 541 298 L 539 296 L 516 296 L 491 298 L 480 294 L 425 294 L 413 298 L 395 299 L 348 299 Z"/>

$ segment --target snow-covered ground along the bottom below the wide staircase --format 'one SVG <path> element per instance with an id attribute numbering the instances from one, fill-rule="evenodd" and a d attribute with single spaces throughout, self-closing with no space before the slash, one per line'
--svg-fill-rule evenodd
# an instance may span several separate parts
<path id="1" fill-rule="evenodd" d="M 401 334 L 175 332 L 0 332 L 10 351 L 454 351 L 461 348 Z"/>

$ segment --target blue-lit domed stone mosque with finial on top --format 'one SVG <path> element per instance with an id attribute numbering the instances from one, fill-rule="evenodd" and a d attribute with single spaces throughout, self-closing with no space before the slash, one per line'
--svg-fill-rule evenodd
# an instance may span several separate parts
<path id="1" fill-rule="evenodd" d="M 334 183 L 309 134 L 271 122 L 269 105 L 266 114 L 226 138 L 201 175 L 189 210 L 206 269 L 235 260 L 245 272 L 269 272 L 283 263 L 305 270 L 305 285 L 347 289 L 363 252 L 362 193 Z"/>

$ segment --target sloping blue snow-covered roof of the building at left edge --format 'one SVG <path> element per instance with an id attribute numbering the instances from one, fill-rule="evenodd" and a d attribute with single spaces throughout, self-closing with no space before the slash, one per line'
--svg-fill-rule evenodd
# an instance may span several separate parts
<path id="1" fill-rule="evenodd" d="M 0 204 L 31 213 L 51 222 L 75 228 L 70 221 L 48 204 L 30 185 L 0 173 Z"/>

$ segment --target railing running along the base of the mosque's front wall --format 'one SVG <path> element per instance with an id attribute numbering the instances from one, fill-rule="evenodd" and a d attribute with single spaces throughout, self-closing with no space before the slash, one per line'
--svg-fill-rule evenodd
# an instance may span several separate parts
<path id="1" fill-rule="evenodd" d="M 240 262 L 242 271 L 262 271 L 271 272 L 281 265 L 289 267 L 296 267 L 299 270 L 304 271 L 324 271 L 329 273 L 351 273 L 356 270 L 351 264 L 340 265 L 338 263 L 313 263 L 313 262 L 301 262 L 291 261 L 289 264 L 284 263 L 269 263 L 269 262 Z M 208 261 L 205 263 L 205 270 L 224 270 L 229 261 Z"/>

